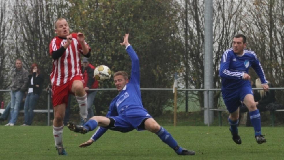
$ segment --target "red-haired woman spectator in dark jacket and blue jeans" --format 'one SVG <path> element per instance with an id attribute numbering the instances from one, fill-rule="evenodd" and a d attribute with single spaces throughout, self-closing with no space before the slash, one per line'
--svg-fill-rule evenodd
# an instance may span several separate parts
<path id="1" fill-rule="evenodd" d="M 33 122 L 33 110 L 42 92 L 42 83 L 44 81 L 44 76 L 40 74 L 36 63 L 31 65 L 31 74 L 28 77 L 28 94 L 24 104 L 24 124 L 22 126 L 30 126 Z"/>

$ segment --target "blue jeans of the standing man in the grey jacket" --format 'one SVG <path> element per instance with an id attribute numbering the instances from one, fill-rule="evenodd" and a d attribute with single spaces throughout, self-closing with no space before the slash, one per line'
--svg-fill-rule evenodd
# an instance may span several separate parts
<path id="1" fill-rule="evenodd" d="M 11 91 L 11 110 L 10 110 L 11 119 L 9 123 L 15 124 L 17 122 L 23 96 L 24 92 Z"/>

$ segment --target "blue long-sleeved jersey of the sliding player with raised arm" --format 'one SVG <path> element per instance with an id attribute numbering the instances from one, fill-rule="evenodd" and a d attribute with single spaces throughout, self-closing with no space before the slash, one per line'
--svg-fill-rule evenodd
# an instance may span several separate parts
<path id="1" fill-rule="evenodd" d="M 140 69 L 139 59 L 132 46 L 126 46 L 126 51 L 131 59 L 131 78 L 119 94 L 113 98 L 109 105 L 109 111 L 106 117 L 118 116 L 126 108 L 143 108 L 142 98 L 140 92 Z M 91 137 L 92 140 L 96 141 L 105 132 L 106 128 L 99 127 L 94 135 Z"/>

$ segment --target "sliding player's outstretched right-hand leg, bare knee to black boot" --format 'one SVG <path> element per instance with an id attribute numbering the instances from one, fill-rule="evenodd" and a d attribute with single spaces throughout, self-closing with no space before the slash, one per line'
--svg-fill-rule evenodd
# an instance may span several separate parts
<path id="1" fill-rule="evenodd" d="M 171 136 L 171 134 L 161 127 L 153 118 L 148 118 L 144 122 L 144 127 L 150 132 L 155 133 L 160 137 L 160 139 L 169 145 L 169 147 L 173 148 L 178 155 L 195 155 L 195 152 L 192 150 L 187 150 L 177 145 L 175 139 Z"/>

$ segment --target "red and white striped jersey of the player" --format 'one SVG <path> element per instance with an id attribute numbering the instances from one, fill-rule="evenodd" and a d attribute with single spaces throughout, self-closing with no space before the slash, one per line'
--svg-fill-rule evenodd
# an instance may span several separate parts
<path id="1" fill-rule="evenodd" d="M 80 60 L 80 53 L 83 54 L 82 46 L 77 40 L 77 33 L 72 33 L 72 37 L 72 42 L 63 55 L 59 59 L 53 60 L 52 72 L 50 74 L 51 85 L 63 85 L 76 75 L 81 76 L 83 79 Z M 58 36 L 53 38 L 49 44 L 49 54 L 51 55 L 53 51 L 64 46 L 66 42 L 66 39 L 59 38 Z M 91 51 L 89 45 L 86 42 L 85 44 L 89 48 L 89 51 Z"/>

